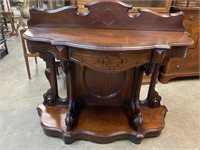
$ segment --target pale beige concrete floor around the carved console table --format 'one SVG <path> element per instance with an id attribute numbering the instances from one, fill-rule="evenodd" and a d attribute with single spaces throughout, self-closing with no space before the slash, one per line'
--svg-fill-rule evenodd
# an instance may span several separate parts
<path id="1" fill-rule="evenodd" d="M 36 106 L 49 87 L 45 65 L 30 59 L 32 79 L 26 73 L 20 37 L 8 38 L 9 54 L 0 60 L 0 150 L 198 150 L 200 149 L 199 79 L 157 84 L 162 104 L 168 108 L 165 128 L 156 138 L 136 145 L 129 141 L 95 144 L 77 141 L 65 145 L 61 139 L 46 136 L 40 126 Z M 60 87 L 62 74 L 58 79 Z M 143 86 L 142 96 L 147 86 Z"/>

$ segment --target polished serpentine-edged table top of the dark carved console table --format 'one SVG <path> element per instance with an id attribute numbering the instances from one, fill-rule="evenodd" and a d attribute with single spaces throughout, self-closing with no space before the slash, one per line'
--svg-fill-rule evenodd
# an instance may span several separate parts
<path id="1" fill-rule="evenodd" d="M 24 38 L 90 50 L 170 49 L 193 43 L 187 32 L 87 28 L 31 28 Z"/>

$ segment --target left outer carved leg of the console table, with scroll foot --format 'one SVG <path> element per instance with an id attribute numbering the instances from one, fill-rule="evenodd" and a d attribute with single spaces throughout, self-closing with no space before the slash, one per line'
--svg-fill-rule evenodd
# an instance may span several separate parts
<path id="1" fill-rule="evenodd" d="M 47 105 L 53 105 L 59 99 L 55 57 L 50 52 L 40 52 L 40 57 L 46 62 L 45 75 L 50 84 L 50 89 L 48 89 L 47 92 L 43 95 L 43 103 Z"/>

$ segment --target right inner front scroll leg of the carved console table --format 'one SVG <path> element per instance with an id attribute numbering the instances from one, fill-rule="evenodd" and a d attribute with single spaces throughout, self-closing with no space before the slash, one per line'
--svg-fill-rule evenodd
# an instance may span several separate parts
<path id="1" fill-rule="evenodd" d="M 136 68 L 134 81 L 133 81 L 133 90 L 132 90 L 132 99 L 131 99 L 131 123 L 133 124 L 134 128 L 137 131 L 141 130 L 143 124 L 143 117 L 142 113 L 140 112 L 140 89 L 142 84 L 142 77 L 143 77 L 143 66 Z"/>

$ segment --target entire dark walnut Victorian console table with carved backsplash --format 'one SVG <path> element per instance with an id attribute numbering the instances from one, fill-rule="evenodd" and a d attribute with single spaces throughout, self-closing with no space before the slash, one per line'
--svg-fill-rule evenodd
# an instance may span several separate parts
<path id="1" fill-rule="evenodd" d="M 46 62 L 50 89 L 38 105 L 45 134 L 109 143 L 140 143 L 164 127 L 165 106 L 155 91 L 160 66 L 184 57 L 193 44 L 184 32 L 183 14 L 160 15 L 120 1 L 96 1 L 79 14 L 69 6 L 53 11 L 32 9 L 24 38 L 31 53 Z M 66 74 L 67 97 L 60 98 L 55 58 Z M 140 100 L 142 75 L 152 74 L 146 100 Z M 166 91 L 167 92 L 167 91 Z"/>

